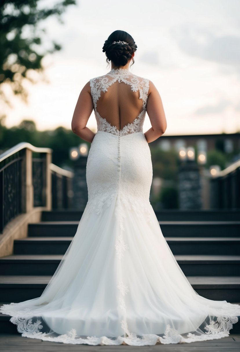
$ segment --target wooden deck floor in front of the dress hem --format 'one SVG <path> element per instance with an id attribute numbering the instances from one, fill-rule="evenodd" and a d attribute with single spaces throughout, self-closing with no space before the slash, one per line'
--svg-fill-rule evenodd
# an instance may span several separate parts
<path id="1" fill-rule="evenodd" d="M 160 352 L 239 352 L 240 335 L 229 335 L 222 339 L 191 342 L 189 344 L 157 344 L 154 346 L 88 346 L 42 341 L 22 337 L 20 334 L 0 334 L 1 352 L 95 352 L 95 351 L 160 351 Z"/>

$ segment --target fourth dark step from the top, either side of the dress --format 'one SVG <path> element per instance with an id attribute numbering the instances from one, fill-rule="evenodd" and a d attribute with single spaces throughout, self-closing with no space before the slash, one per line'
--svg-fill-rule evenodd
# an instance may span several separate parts
<path id="1" fill-rule="evenodd" d="M 13 254 L 0 258 L 4 275 L 53 275 L 63 255 Z M 175 255 L 188 276 L 238 276 L 240 256 Z"/>

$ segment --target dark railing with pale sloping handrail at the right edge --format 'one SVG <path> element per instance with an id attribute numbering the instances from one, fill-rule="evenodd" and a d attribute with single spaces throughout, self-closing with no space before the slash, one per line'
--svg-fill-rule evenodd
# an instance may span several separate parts
<path id="1" fill-rule="evenodd" d="M 210 180 L 210 201 L 214 209 L 240 208 L 240 160 Z"/>

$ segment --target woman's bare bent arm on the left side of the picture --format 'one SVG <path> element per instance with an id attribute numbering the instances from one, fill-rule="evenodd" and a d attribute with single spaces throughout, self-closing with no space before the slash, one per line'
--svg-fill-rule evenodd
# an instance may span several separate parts
<path id="1" fill-rule="evenodd" d="M 73 133 L 90 143 L 93 141 L 95 133 L 86 125 L 92 111 L 93 100 L 91 98 L 90 82 L 88 82 L 79 94 L 72 116 L 71 128 Z"/>

